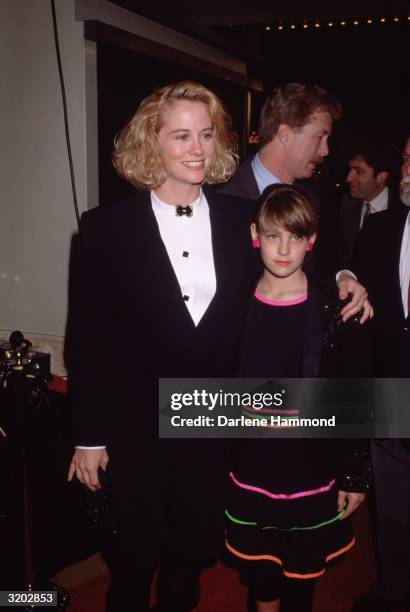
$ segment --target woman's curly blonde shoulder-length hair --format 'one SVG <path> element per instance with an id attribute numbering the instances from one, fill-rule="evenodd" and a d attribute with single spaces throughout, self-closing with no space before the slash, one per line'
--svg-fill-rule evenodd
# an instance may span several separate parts
<path id="1" fill-rule="evenodd" d="M 166 179 L 158 132 L 164 113 L 178 100 L 206 104 L 215 134 L 215 154 L 205 183 L 223 183 L 237 166 L 237 137 L 219 98 L 199 83 L 182 81 L 154 90 L 114 141 L 113 164 L 118 174 L 140 189 L 155 189 Z"/>

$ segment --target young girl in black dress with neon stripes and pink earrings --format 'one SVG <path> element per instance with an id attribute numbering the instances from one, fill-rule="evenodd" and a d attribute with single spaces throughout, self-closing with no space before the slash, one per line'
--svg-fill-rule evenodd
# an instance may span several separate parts
<path id="1" fill-rule="evenodd" d="M 315 207 L 300 188 L 273 185 L 259 200 L 251 233 L 264 271 L 245 330 L 243 377 L 320 373 L 325 296 L 310 286 L 303 269 L 317 224 Z M 235 566 L 246 570 L 258 612 L 310 611 L 316 579 L 354 544 L 346 519 L 369 486 L 363 478 L 367 457 L 345 441 L 330 442 L 265 438 L 237 445 L 226 549 Z M 339 449 L 342 470 L 327 446 Z M 356 457 L 357 473 L 349 454 Z"/>

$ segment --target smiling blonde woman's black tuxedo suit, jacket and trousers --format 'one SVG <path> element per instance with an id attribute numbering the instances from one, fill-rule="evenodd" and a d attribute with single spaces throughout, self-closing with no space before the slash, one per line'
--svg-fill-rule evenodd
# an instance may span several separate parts
<path id="1" fill-rule="evenodd" d="M 191 560 L 203 559 L 222 537 L 224 441 L 157 439 L 158 378 L 233 376 L 256 282 L 253 203 L 205 194 L 217 288 L 198 326 L 149 193 L 93 209 L 80 226 L 70 338 L 75 443 L 107 445 L 114 510 L 150 565 L 164 541 L 164 506 L 177 499 L 170 554 L 193 550 Z"/>

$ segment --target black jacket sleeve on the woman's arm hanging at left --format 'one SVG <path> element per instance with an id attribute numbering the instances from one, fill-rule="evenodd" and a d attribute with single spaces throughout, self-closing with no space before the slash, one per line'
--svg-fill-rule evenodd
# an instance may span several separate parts
<path id="1" fill-rule="evenodd" d="M 85 213 L 75 240 L 69 307 L 69 395 L 76 445 L 106 444 L 112 409 L 110 380 L 114 296 L 109 257 L 99 231 L 98 215 Z M 97 219 L 95 218 L 97 217 Z"/>

